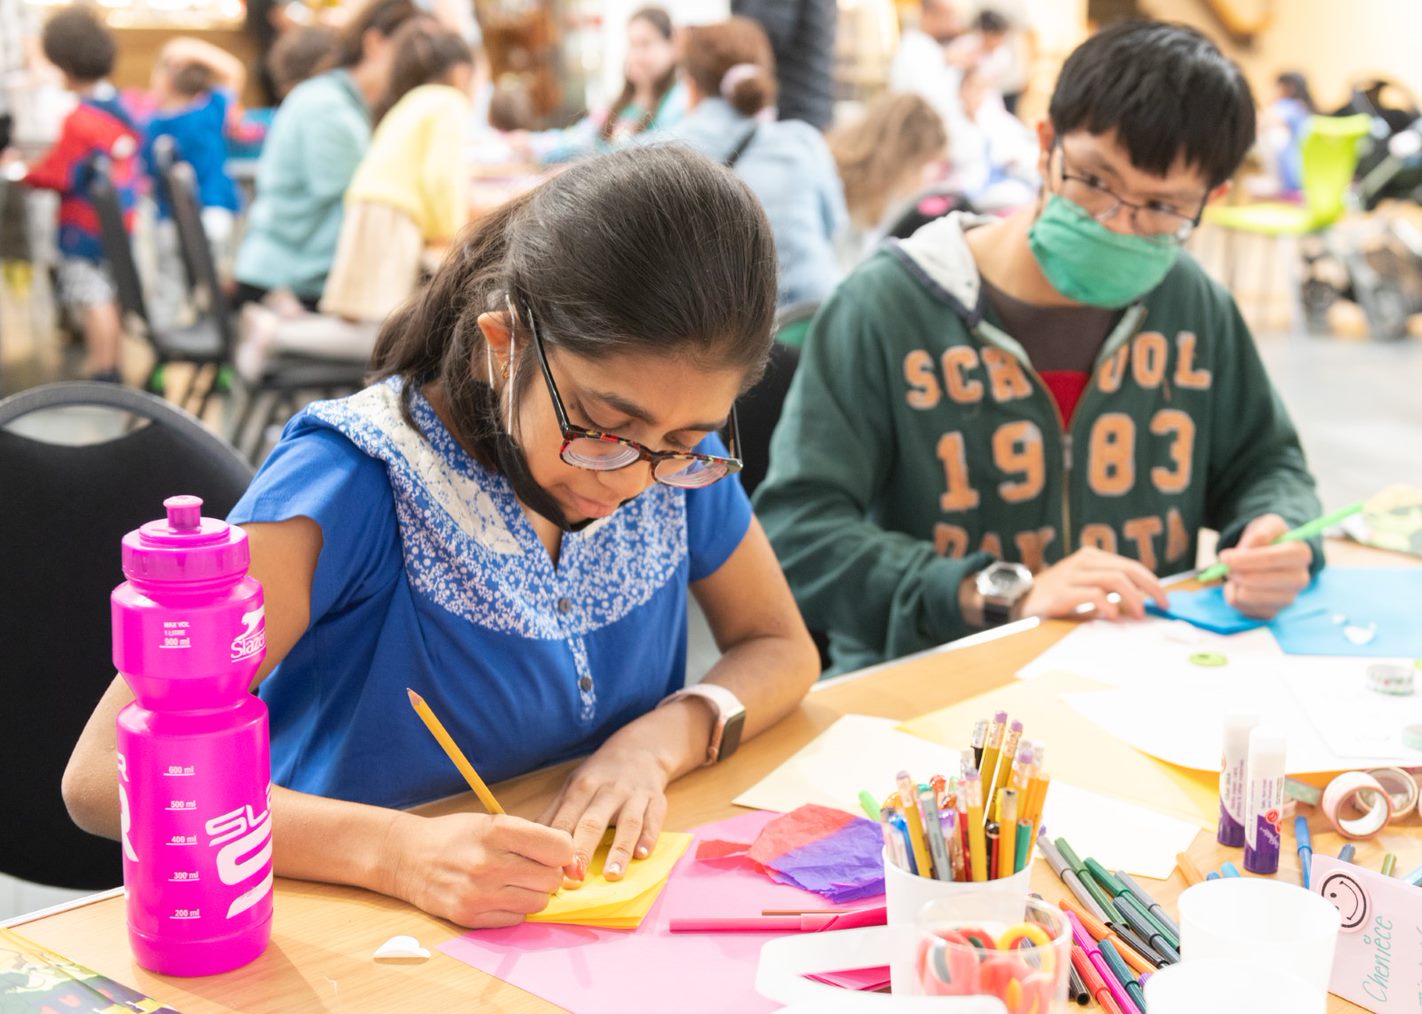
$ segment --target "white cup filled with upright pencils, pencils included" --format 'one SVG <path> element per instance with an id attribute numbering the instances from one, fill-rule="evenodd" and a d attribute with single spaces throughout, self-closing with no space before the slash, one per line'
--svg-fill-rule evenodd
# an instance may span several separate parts
<path id="1" fill-rule="evenodd" d="M 960 769 L 917 782 L 899 772 L 883 799 L 884 903 L 894 929 L 896 993 L 916 993 L 914 924 L 929 903 L 964 919 L 1021 922 L 1049 778 L 1045 751 L 998 713 L 973 730 Z"/>

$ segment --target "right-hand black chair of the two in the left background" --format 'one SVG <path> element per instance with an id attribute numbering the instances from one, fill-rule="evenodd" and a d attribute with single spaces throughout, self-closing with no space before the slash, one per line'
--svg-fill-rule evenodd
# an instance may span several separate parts
<path id="1" fill-rule="evenodd" d="M 193 304 L 213 320 L 222 333 L 223 346 L 230 351 L 236 347 L 235 319 L 218 279 L 218 266 L 212 260 L 212 246 L 202 225 L 192 166 L 178 158 L 172 138 L 161 138 L 154 149 L 159 186 L 168 198 L 178 228 L 178 246 L 182 250 Z M 230 356 L 225 361 L 230 361 Z M 253 457 L 260 449 L 262 432 L 282 410 L 286 410 L 287 415 L 294 414 L 306 402 L 303 397 L 306 393 L 334 398 L 358 391 L 365 385 L 365 370 L 364 363 L 276 356 L 267 363 L 260 380 L 243 384 L 243 407 L 229 429 L 229 437 L 240 447 L 243 434 L 256 422 L 257 437 L 247 455 Z M 209 387 L 209 394 L 210 390 Z M 198 414 L 202 414 L 201 410 Z"/>

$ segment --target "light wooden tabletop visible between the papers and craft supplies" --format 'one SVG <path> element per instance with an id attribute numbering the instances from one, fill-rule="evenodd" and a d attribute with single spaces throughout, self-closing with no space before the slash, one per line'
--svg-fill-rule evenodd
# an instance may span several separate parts
<path id="1" fill-rule="evenodd" d="M 1406 566 L 1408 557 L 1351 545 L 1330 546 L 1330 560 L 1355 566 Z M 668 792 L 667 826 L 693 828 L 729 816 L 729 799 L 784 762 L 843 714 L 907 720 L 1000 687 L 1012 674 L 1071 630 L 1054 621 L 985 644 L 931 651 L 889 663 L 838 680 L 820 683 L 798 711 L 745 747 L 724 765 L 697 771 Z M 567 771 L 567 765 L 539 771 L 498 786 L 509 812 L 535 816 Z M 471 795 L 432 804 L 422 812 L 445 813 L 476 809 Z M 1317 825 L 1318 822 L 1315 822 Z M 1342 840 L 1320 833 L 1314 848 L 1337 853 Z M 1413 816 L 1391 825 L 1371 842 L 1358 843 L 1357 862 L 1376 869 L 1385 852 L 1395 852 L 1399 869 L 1422 865 L 1422 825 Z M 1202 832 L 1190 856 L 1203 870 L 1224 860 L 1240 862 L 1239 849 L 1224 849 Z M 1298 883 L 1298 866 L 1284 848 L 1278 879 Z M 1065 896 L 1045 863 L 1032 870 L 1032 886 L 1055 900 Z M 1173 912 L 1185 889 L 1179 873 L 1169 882 L 1149 882 Z M 169 978 L 139 968 L 129 954 L 124 929 L 124 902 L 112 892 L 74 907 L 13 923 L 24 936 L 67 957 L 164 1000 L 185 1014 L 201 1011 L 304 1011 L 304 1010 L 489 1010 L 550 1011 L 552 1004 L 445 957 L 434 947 L 461 933 L 411 906 L 357 890 L 279 879 L 276 926 L 267 951 L 245 968 L 209 978 Z M 407 933 L 434 951 L 418 966 L 375 964 L 371 953 L 384 940 Z M 631 1010 L 631 1007 L 629 1008 Z M 1330 1013 L 1358 1011 L 1332 997 Z"/>

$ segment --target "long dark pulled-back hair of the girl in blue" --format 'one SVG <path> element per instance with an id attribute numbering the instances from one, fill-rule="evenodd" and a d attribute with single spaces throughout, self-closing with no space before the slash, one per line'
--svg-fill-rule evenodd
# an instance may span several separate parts
<path id="1" fill-rule="evenodd" d="M 519 393 L 546 348 L 690 358 L 754 384 L 775 320 L 775 242 L 729 169 L 681 145 L 577 162 L 476 223 L 434 280 L 381 327 L 374 377 L 437 381 L 455 437 L 489 464 L 499 432 L 481 313 L 516 313 Z"/>

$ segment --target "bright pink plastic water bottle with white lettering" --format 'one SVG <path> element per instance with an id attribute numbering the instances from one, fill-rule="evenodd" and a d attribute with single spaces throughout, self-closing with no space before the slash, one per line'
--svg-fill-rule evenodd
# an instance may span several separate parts
<path id="1" fill-rule="evenodd" d="M 210 976 L 272 936 L 272 749 L 249 693 L 266 654 L 247 536 L 196 496 L 124 536 L 111 596 L 128 939 L 145 968 Z"/>

